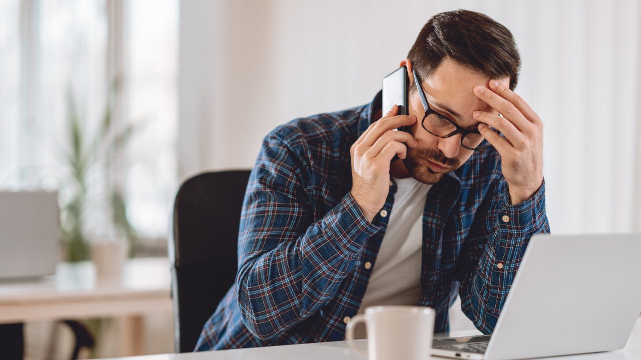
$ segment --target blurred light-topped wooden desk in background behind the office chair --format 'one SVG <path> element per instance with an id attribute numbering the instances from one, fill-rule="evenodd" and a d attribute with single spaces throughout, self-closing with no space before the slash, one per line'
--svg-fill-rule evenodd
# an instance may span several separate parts
<path id="1" fill-rule="evenodd" d="M 60 263 L 56 275 L 0 281 L 0 323 L 125 316 L 123 354 L 141 354 L 143 314 L 172 311 L 167 258 L 129 259 L 121 279 L 96 279 L 90 261 Z"/>

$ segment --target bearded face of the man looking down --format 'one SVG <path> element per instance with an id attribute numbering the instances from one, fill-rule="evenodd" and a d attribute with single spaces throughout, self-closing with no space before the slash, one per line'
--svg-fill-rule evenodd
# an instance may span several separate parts
<path id="1" fill-rule="evenodd" d="M 460 134 L 449 138 L 438 138 L 421 126 L 420 120 L 423 119 L 425 110 L 416 91 L 413 76 L 411 73 L 409 76 L 408 106 L 410 115 L 415 115 L 417 118 L 410 133 L 416 138 L 419 146 L 408 147 L 403 164 L 410 175 L 418 181 L 434 184 L 443 174 L 463 165 L 474 151 L 462 147 Z M 498 80 L 505 86 L 510 85 L 509 78 Z M 476 110 L 496 113 L 472 93 L 474 86 L 487 87 L 490 78 L 480 72 L 466 69 L 453 60 L 445 59 L 429 78 L 422 81 L 429 107 L 462 127 L 478 126 L 478 122 L 472 117 L 472 113 Z"/>

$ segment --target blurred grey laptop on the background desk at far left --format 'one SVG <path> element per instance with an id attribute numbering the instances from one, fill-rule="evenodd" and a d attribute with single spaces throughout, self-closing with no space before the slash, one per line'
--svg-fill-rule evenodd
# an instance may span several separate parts
<path id="1" fill-rule="evenodd" d="M 60 259 L 57 192 L 0 192 L 0 279 L 54 274 Z"/>

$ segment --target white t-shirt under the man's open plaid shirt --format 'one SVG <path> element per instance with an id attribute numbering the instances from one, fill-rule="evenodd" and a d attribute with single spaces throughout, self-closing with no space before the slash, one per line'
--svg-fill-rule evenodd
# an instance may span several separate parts
<path id="1" fill-rule="evenodd" d="M 376 305 L 418 305 L 422 215 L 431 185 L 413 177 L 395 179 L 397 192 L 387 231 L 358 313 Z"/>

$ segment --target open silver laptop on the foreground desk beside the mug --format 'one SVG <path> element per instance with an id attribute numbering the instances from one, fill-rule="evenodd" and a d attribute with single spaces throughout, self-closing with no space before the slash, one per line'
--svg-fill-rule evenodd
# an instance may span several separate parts
<path id="1" fill-rule="evenodd" d="M 536 234 L 492 336 L 435 339 L 432 355 L 506 360 L 618 350 L 641 313 L 641 234 Z"/>

